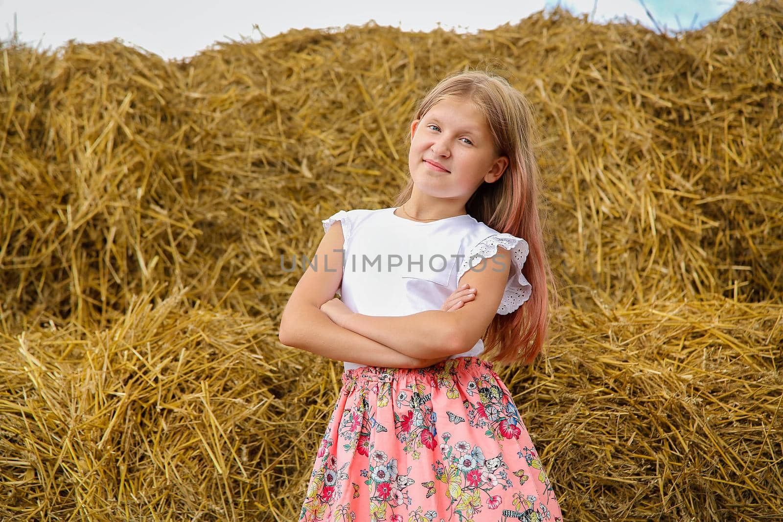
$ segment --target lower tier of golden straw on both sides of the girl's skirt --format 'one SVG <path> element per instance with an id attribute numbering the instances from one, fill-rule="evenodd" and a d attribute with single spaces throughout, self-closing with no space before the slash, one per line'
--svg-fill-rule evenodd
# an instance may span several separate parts
<path id="1" fill-rule="evenodd" d="M 181 294 L 131 301 L 2 339 L 0 517 L 295 520 L 340 365 Z M 780 513 L 783 305 L 603 305 L 498 368 L 568 520 Z"/>

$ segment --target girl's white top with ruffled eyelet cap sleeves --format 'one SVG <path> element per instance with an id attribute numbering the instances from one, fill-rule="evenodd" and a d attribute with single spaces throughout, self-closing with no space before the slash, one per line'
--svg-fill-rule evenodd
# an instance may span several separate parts
<path id="1" fill-rule="evenodd" d="M 352 311 L 396 317 L 440 310 L 462 275 L 482 258 L 493 257 L 499 246 L 511 250 L 513 266 L 497 313 L 509 314 L 530 298 L 532 287 L 521 272 L 529 252 L 525 239 L 501 234 L 468 214 L 420 222 L 394 211 L 395 207 L 359 208 L 322 221 L 324 232 L 334 221 L 341 222 L 345 258 L 338 293 Z M 449 358 L 483 351 L 484 341 L 479 339 L 470 350 Z"/>

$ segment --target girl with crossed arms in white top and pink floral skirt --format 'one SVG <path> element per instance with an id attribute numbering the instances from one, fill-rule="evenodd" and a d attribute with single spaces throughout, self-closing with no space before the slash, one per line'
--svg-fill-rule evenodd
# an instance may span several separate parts
<path id="1" fill-rule="evenodd" d="M 529 363 L 547 339 L 534 131 L 502 77 L 447 77 L 417 108 L 395 207 L 323 220 L 280 322 L 283 344 L 345 362 L 300 521 L 562 520 L 478 357 Z"/>

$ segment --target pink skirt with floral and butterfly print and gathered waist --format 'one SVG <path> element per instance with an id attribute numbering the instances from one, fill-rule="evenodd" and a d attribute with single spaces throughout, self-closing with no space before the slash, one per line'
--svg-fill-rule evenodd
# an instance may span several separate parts
<path id="1" fill-rule="evenodd" d="M 491 362 L 345 370 L 301 521 L 563 520 Z"/>

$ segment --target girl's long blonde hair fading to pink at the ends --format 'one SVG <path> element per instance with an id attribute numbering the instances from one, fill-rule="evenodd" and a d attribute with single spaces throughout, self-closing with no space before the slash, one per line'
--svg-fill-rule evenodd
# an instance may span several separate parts
<path id="1" fill-rule="evenodd" d="M 529 301 L 507 315 L 495 315 L 484 336 L 485 353 L 499 347 L 493 360 L 529 364 L 549 337 L 550 293 L 554 306 L 557 288 L 544 248 L 539 219 L 540 174 L 534 143 L 539 134 L 532 105 L 508 81 L 493 73 L 468 70 L 438 82 L 421 99 L 413 120 L 420 120 L 442 99 L 465 99 L 480 110 L 492 130 L 498 156 L 507 156 L 509 164 L 494 183 L 484 182 L 465 204 L 465 210 L 498 232 L 507 232 L 527 241 L 530 247 L 522 273 L 532 286 Z M 413 121 L 411 121 L 413 123 Z M 410 125 L 409 125 L 410 129 Z M 408 140 L 413 139 L 410 135 Z M 395 200 L 395 207 L 410 199 L 413 179 Z M 514 267 L 511 268 L 512 272 Z"/>

